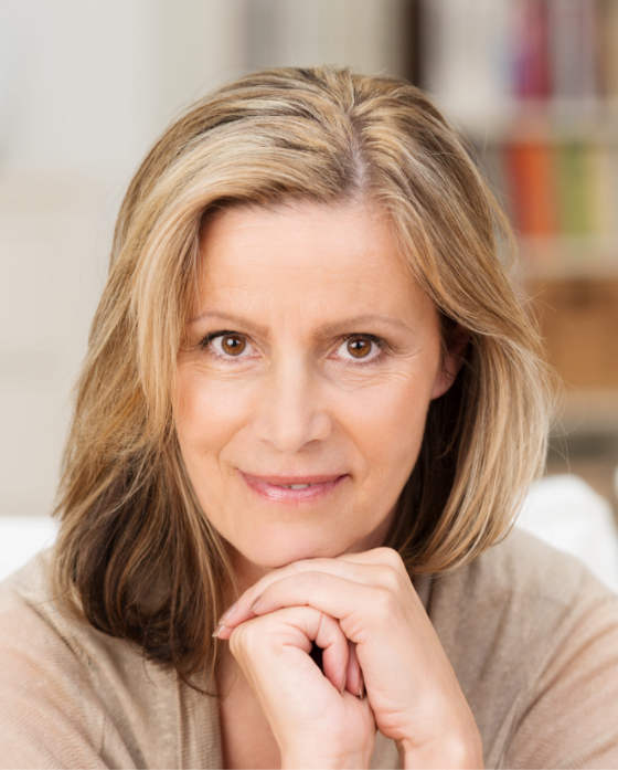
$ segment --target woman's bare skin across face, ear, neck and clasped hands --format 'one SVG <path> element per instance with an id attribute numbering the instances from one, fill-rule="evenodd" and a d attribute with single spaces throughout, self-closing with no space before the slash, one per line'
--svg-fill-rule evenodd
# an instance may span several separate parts
<path id="1" fill-rule="evenodd" d="M 175 424 L 245 591 L 216 630 L 232 653 L 227 766 L 367 767 L 377 726 L 406 766 L 481 767 L 450 664 L 381 548 L 465 335 L 443 356 L 436 309 L 375 207 L 230 209 L 202 245 Z M 259 756 L 235 748 L 252 726 Z"/>

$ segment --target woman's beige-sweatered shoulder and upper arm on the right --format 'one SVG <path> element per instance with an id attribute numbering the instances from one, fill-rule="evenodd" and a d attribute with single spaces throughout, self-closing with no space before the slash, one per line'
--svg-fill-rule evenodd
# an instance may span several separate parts
<path id="1" fill-rule="evenodd" d="M 428 611 L 489 763 L 618 761 L 618 598 L 577 559 L 514 529 L 436 579 Z"/>

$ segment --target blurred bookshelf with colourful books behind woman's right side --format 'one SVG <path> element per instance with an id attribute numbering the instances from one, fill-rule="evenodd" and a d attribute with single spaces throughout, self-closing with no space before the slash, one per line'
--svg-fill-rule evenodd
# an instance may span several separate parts
<path id="1" fill-rule="evenodd" d="M 513 222 L 518 279 L 566 386 L 618 435 L 618 0 L 417 0 L 420 67 Z"/>

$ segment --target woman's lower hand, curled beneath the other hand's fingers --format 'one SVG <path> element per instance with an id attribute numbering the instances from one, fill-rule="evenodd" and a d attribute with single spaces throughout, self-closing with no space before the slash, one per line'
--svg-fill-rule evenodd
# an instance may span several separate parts
<path id="1" fill-rule="evenodd" d="M 338 621 L 294 606 L 226 634 L 277 740 L 281 767 L 369 767 L 375 722 L 367 699 L 344 690 L 353 669 L 358 692 L 360 668 Z M 311 641 L 323 650 L 323 675 L 309 657 Z"/>

